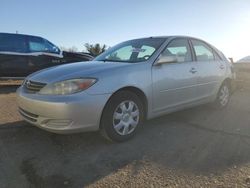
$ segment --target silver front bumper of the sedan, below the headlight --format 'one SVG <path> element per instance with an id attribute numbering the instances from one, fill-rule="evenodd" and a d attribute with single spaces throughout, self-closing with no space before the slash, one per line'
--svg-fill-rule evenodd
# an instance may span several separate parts
<path id="1" fill-rule="evenodd" d="M 19 113 L 23 119 L 54 133 L 74 133 L 99 129 L 102 110 L 111 94 L 80 92 L 67 96 L 47 96 L 17 90 Z"/>

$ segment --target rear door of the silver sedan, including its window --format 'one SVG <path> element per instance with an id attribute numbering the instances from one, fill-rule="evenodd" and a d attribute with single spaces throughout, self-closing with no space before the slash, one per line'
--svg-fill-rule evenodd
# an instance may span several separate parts
<path id="1" fill-rule="evenodd" d="M 216 94 L 224 75 L 223 61 L 216 52 L 203 41 L 191 40 L 197 61 L 197 95 L 200 99 L 209 99 Z"/>

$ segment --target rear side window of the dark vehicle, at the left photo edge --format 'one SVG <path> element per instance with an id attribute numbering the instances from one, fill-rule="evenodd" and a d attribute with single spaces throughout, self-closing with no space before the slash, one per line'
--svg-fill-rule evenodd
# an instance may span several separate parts
<path id="1" fill-rule="evenodd" d="M 0 51 L 4 52 L 27 52 L 26 38 L 22 35 L 0 35 Z"/>

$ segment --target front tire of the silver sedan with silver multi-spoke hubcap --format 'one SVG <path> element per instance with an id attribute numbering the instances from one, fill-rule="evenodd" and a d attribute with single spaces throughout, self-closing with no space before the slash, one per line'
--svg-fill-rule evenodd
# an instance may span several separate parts
<path id="1" fill-rule="evenodd" d="M 108 101 L 101 118 L 100 131 L 108 140 L 124 142 L 132 138 L 144 119 L 140 98 L 130 91 L 120 91 Z"/>

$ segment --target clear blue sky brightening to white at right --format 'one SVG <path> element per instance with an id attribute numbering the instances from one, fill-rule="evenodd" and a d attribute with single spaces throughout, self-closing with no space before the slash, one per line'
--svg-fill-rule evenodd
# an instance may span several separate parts
<path id="1" fill-rule="evenodd" d="M 0 18 L 0 32 L 79 51 L 85 43 L 188 35 L 234 60 L 250 55 L 250 0 L 0 0 Z"/>

